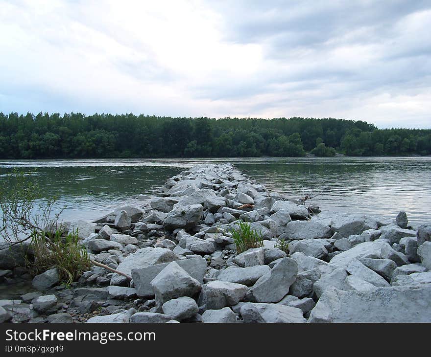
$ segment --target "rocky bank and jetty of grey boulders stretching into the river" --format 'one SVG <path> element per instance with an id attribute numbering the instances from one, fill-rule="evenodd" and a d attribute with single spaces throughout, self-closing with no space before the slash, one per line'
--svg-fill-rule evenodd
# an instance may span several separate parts
<path id="1" fill-rule="evenodd" d="M 315 207 L 229 164 L 194 166 L 168 179 L 157 197 L 135 200 L 69 227 L 93 259 L 123 275 L 94 266 L 66 289 L 49 270 L 33 280 L 38 291 L 1 302 L 2 319 L 431 321 L 431 227 L 411 229 L 405 214 L 311 216 Z M 238 219 L 259 232 L 263 247 L 238 254 Z M 0 268 L 2 285 L 29 278 L 21 268 Z"/>

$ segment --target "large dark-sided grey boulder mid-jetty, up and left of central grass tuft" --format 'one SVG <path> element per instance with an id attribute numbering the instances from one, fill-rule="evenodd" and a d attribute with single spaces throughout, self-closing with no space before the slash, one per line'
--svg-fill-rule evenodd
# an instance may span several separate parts
<path id="1" fill-rule="evenodd" d="M 203 207 L 200 204 L 176 206 L 166 216 L 163 227 L 166 230 L 174 230 L 176 228 L 190 229 L 200 221 L 202 213 Z"/>

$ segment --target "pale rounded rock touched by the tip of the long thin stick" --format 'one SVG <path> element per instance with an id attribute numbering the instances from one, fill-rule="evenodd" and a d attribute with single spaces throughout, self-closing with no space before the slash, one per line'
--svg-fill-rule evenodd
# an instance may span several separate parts
<path id="1" fill-rule="evenodd" d="M 134 268 L 146 268 L 152 265 L 161 263 L 170 263 L 179 260 L 179 257 L 166 248 L 146 247 L 138 249 L 135 253 L 130 254 L 119 264 L 117 270 L 131 275 Z M 123 281 L 123 277 L 119 274 L 114 274 L 111 279 L 111 285 L 118 285 Z"/>

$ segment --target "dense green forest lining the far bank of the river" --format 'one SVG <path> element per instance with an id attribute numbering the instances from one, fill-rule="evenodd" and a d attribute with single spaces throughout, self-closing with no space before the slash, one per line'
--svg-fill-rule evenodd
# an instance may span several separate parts
<path id="1" fill-rule="evenodd" d="M 431 155 L 431 129 L 333 118 L 0 112 L 0 158 Z"/>

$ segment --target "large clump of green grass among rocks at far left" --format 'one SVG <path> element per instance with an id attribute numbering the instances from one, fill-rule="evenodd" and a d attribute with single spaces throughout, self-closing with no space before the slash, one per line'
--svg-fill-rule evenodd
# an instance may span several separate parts
<path id="1" fill-rule="evenodd" d="M 76 233 L 63 237 L 59 230 L 54 233 L 47 232 L 47 235 L 34 234 L 31 248 L 35 259 L 29 262 L 32 274 L 37 275 L 55 267 L 60 280 L 70 285 L 84 271 L 91 268 L 87 250 L 78 244 L 78 241 Z"/>

